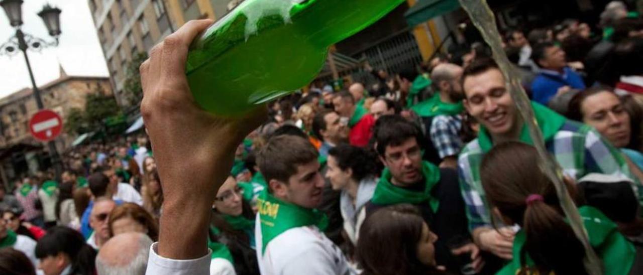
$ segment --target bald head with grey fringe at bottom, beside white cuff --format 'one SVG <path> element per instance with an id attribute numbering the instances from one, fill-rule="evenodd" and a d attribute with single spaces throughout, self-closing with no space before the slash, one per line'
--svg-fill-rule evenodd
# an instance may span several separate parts
<path id="1" fill-rule="evenodd" d="M 98 275 L 143 275 L 152 239 L 143 233 L 122 233 L 113 236 L 98 251 Z"/>

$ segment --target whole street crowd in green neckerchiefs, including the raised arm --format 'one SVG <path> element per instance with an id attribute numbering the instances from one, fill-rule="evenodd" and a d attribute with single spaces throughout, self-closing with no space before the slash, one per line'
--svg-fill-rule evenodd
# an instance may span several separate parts
<path id="1" fill-rule="evenodd" d="M 176 58 L 210 23 L 141 66 L 146 134 L 0 188 L 0 273 L 590 273 L 482 44 L 222 119 L 195 105 Z M 643 274 L 642 17 L 614 1 L 600 28 L 504 34 L 593 264 Z"/>

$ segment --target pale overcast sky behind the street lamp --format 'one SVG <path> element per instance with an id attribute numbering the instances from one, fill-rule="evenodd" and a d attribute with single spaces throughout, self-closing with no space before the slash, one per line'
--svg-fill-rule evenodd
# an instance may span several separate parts
<path id="1" fill-rule="evenodd" d="M 59 63 L 68 75 L 109 76 L 87 0 L 24 0 L 23 31 L 51 40 L 37 15 L 45 3 L 62 10 L 62 34 L 57 48 L 43 49 L 39 53 L 28 51 L 36 84 L 41 86 L 58 78 Z M 0 11 L 0 44 L 14 33 L 5 11 Z M 0 98 L 24 87 L 32 87 L 32 84 L 22 53 L 12 57 L 0 55 Z"/>

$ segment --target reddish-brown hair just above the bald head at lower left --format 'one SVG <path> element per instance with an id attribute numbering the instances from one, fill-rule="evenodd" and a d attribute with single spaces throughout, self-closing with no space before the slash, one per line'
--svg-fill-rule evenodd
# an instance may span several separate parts
<path id="1" fill-rule="evenodd" d="M 136 222 L 147 229 L 147 236 L 149 236 L 150 239 L 155 242 L 158 240 L 159 227 L 156 220 L 154 220 L 152 215 L 145 211 L 143 207 L 132 202 L 125 202 L 120 206 L 116 206 L 111 213 L 109 213 L 109 236 L 114 236 L 112 226 L 116 220 L 120 220 L 121 218 L 132 218 L 132 220 L 136 220 Z"/>

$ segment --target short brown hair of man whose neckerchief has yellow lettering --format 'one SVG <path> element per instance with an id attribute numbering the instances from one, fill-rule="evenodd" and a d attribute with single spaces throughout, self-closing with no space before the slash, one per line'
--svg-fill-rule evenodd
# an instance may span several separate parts
<path id="1" fill-rule="evenodd" d="M 307 139 L 284 135 L 269 139 L 257 155 L 257 163 L 266 182 L 276 179 L 287 183 L 297 173 L 297 166 L 310 163 L 317 156 L 317 150 Z"/>

